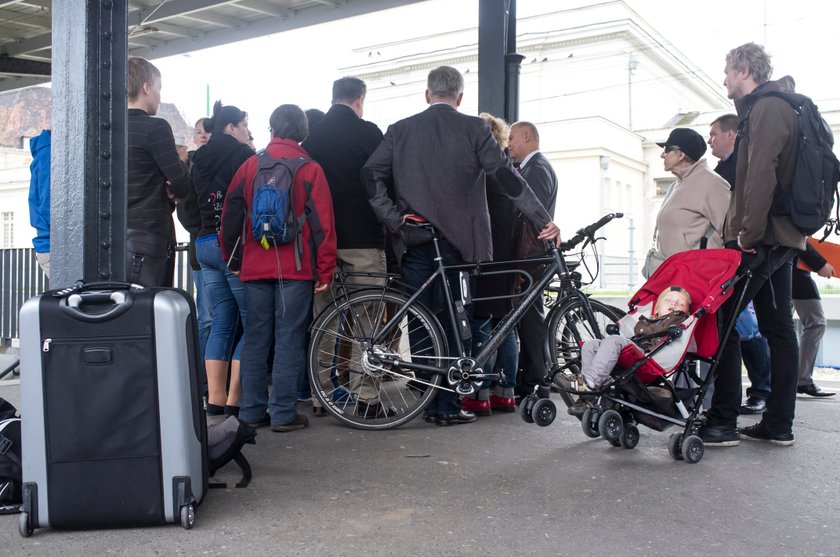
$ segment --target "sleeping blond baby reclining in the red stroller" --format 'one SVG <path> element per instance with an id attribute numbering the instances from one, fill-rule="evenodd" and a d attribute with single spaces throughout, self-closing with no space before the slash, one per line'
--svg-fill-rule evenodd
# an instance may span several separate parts
<path id="1" fill-rule="evenodd" d="M 688 319 L 690 308 L 691 294 L 681 286 L 669 286 L 659 294 L 651 316 L 639 316 L 632 337 L 617 334 L 584 342 L 580 354 L 580 376 L 576 381 L 578 389 L 586 391 L 601 387 L 626 346 L 634 344 L 642 353 L 647 354 L 662 344 L 665 336 L 660 333 Z M 569 413 L 582 416 L 588 407 L 587 402 L 580 398 L 569 408 Z"/>

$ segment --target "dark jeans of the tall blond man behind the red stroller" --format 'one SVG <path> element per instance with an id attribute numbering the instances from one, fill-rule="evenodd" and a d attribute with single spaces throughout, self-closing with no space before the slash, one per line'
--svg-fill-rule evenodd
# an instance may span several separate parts
<path id="1" fill-rule="evenodd" d="M 749 259 L 746 254 L 744 257 Z M 796 408 L 799 345 L 792 315 L 792 257 L 793 250 L 790 248 L 769 250 L 749 285 L 745 285 L 744 280 L 740 281 L 718 312 L 720 330 L 723 331 L 722 324 L 728 323 L 733 312 L 740 313 L 747 302 L 753 300 L 761 336 L 770 345 L 770 396 L 761 421 L 776 434 L 791 432 Z M 744 300 L 738 306 L 739 295 L 745 287 Z M 741 343 L 734 327 L 726 337 L 721 338 L 721 342 L 725 347 L 715 380 L 709 424 L 735 426 L 741 405 Z"/>

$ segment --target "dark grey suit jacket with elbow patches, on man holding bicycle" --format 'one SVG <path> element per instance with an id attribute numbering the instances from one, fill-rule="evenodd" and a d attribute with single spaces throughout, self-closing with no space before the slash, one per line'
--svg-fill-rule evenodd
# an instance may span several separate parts
<path id="1" fill-rule="evenodd" d="M 493 246 L 485 173 L 496 176 L 539 228 L 551 221 L 487 124 L 447 104 L 434 104 L 390 126 L 362 178 L 374 213 L 391 231 L 402 226 L 404 213 L 415 212 L 435 225 L 465 261 L 487 261 Z M 391 178 L 395 200 L 386 187 Z"/>

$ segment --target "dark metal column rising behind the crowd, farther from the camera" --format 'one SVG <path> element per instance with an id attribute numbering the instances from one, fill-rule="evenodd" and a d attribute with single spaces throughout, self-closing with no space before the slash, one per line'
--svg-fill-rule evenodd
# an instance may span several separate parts
<path id="1" fill-rule="evenodd" d="M 478 109 L 508 122 L 519 118 L 516 0 L 480 0 L 478 11 Z"/>

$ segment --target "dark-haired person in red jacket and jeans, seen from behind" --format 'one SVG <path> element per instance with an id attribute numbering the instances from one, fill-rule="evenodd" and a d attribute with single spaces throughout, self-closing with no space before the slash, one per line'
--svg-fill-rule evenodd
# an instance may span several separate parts
<path id="1" fill-rule="evenodd" d="M 294 175 L 295 215 L 302 220 L 299 241 L 271 243 L 254 239 L 251 209 L 257 171 L 264 157 L 308 159 L 299 145 L 306 138 L 306 115 L 295 105 L 277 107 L 269 119 L 272 140 L 231 181 L 222 210 L 221 239 L 225 260 L 245 284 L 249 308 L 242 350 L 242 399 L 239 418 L 251 426 L 271 425 L 292 431 L 308 425 L 297 413 L 297 382 L 305 372 L 307 329 L 314 293 L 327 289 L 335 271 L 332 199 L 324 171 L 304 162 Z M 244 232 L 244 235 L 243 235 Z M 268 394 L 268 358 L 274 340 L 272 391 Z"/>

